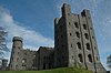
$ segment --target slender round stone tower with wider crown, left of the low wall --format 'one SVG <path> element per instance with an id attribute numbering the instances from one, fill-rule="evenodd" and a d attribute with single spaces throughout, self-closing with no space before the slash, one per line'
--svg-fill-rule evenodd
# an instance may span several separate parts
<path id="1" fill-rule="evenodd" d="M 14 36 L 12 40 L 12 51 L 11 51 L 11 58 L 10 58 L 10 70 L 19 70 L 19 62 L 20 62 L 20 51 L 22 50 L 22 38 Z"/>

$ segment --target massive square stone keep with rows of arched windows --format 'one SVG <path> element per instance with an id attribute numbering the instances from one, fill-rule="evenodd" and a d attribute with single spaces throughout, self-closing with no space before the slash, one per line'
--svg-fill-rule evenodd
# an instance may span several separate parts
<path id="1" fill-rule="evenodd" d="M 63 4 L 62 17 L 54 20 L 54 55 L 57 67 L 82 66 L 93 72 L 105 72 L 89 10 L 74 14 L 69 4 Z"/>

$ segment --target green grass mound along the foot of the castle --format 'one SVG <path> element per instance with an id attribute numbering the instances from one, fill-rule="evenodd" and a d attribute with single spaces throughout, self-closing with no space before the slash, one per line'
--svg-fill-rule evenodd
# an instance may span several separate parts
<path id="1" fill-rule="evenodd" d="M 85 69 L 80 67 L 60 67 L 42 71 L 0 71 L 0 73 L 92 73 Z"/>

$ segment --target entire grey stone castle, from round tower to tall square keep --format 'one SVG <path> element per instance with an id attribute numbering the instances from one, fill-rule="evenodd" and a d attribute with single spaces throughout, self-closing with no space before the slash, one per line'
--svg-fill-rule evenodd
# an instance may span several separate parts
<path id="1" fill-rule="evenodd" d="M 23 49 L 22 38 L 14 36 L 10 70 L 46 70 L 82 66 L 95 73 L 107 73 L 100 62 L 89 10 L 71 13 L 70 4 L 62 6 L 62 17 L 54 20 L 54 48 L 38 51 Z"/>

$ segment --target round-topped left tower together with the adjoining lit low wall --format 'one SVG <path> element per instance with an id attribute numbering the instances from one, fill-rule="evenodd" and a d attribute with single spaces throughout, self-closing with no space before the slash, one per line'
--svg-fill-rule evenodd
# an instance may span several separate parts
<path id="1" fill-rule="evenodd" d="M 34 69 L 36 51 L 23 49 L 23 39 L 13 38 L 12 52 L 10 58 L 10 70 L 32 70 Z"/>

